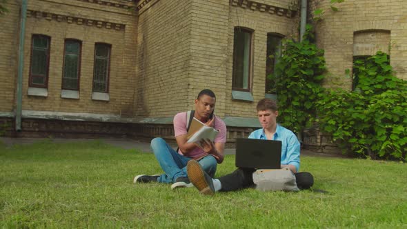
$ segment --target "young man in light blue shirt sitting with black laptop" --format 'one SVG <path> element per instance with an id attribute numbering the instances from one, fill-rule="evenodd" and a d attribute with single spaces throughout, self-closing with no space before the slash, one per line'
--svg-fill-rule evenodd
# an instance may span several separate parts
<path id="1" fill-rule="evenodd" d="M 281 152 L 279 157 L 279 166 L 277 163 L 278 169 L 289 169 L 295 175 L 297 187 L 299 189 L 310 188 L 314 182 L 312 175 L 310 175 L 308 172 L 298 172 L 300 163 L 300 143 L 291 130 L 277 124 L 278 115 L 279 112 L 277 110 L 277 103 L 275 103 L 275 101 L 272 101 L 271 99 L 261 99 L 259 103 L 257 103 L 257 117 L 262 128 L 253 131 L 250 134 L 249 139 L 260 139 L 259 141 L 272 140 L 272 142 L 279 141 L 281 144 L 277 143 L 276 146 L 271 146 L 270 148 L 276 149 L 277 147 L 278 151 L 279 147 L 281 146 L 281 150 L 279 150 L 279 152 Z M 214 195 L 217 191 L 233 191 L 253 186 L 253 173 L 256 172 L 257 169 L 273 169 L 273 167 L 275 167 L 272 166 L 272 161 L 270 162 L 270 165 L 266 163 L 266 166 L 264 166 L 264 162 L 266 162 L 268 159 L 264 152 L 261 151 L 261 148 L 264 147 L 268 146 L 262 143 L 261 147 L 256 148 L 255 146 L 252 146 L 251 150 L 243 149 L 244 151 L 250 151 L 252 153 L 252 158 L 259 156 L 259 159 L 254 159 L 254 161 L 257 161 L 257 163 L 260 164 L 250 164 L 250 162 L 245 164 L 245 161 L 250 161 L 250 159 L 247 158 L 239 162 L 239 157 L 241 157 L 241 155 L 237 155 L 237 170 L 225 175 L 224 177 L 219 177 L 218 179 L 212 179 L 210 176 L 208 176 L 208 174 L 206 174 L 205 171 L 202 170 L 197 161 L 190 160 L 188 161 L 187 165 L 188 178 L 203 195 Z M 239 149 L 238 144 L 237 153 L 239 150 L 241 149 Z M 270 152 L 270 154 L 272 154 L 272 152 Z M 263 161 L 263 163 L 259 161 Z"/>

